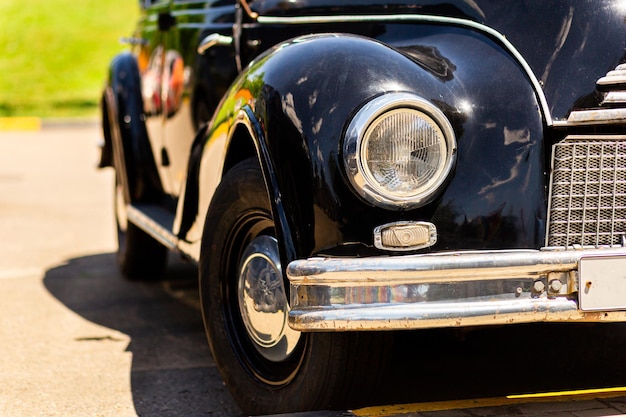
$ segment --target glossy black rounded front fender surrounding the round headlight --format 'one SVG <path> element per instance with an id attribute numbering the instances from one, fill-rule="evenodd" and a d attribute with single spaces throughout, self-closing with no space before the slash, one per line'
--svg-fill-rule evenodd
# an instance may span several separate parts
<path id="1" fill-rule="evenodd" d="M 208 198 L 237 157 L 251 149 L 266 175 L 285 261 L 359 242 L 375 226 L 431 221 L 436 248 L 536 247 L 545 219 L 540 92 L 511 52 L 471 28 L 390 26 L 390 45 L 350 35 L 286 42 L 259 57 L 223 100 L 203 142 L 199 187 Z M 458 141 L 457 166 L 439 197 L 392 212 L 362 201 L 341 162 L 342 135 L 372 98 L 411 92 L 437 105 Z M 242 140 L 246 126 L 248 137 Z M 244 135 L 245 136 L 245 135 Z M 249 145 L 245 145 L 248 141 Z M 224 155 L 215 163 L 210 156 Z M 205 187 L 206 186 L 206 187 Z M 208 191 L 207 191 L 208 190 Z M 205 193 L 207 191 L 207 193 Z M 201 193 L 201 194 L 202 194 Z"/>

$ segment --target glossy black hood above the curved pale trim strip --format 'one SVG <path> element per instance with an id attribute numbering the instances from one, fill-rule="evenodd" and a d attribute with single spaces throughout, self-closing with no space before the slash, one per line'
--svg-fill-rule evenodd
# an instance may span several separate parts
<path id="1" fill-rule="evenodd" d="M 544 84 L 555 119 L 598 104 L 599 77 L 626 60 L 626 6 L 620 0 L 256 0 L 261 15 L 415 13 L 468 19 L 492 27 L 522 53 Z M 289 7 L 286 7 L 289 5 Z M 372 36 L 372 35 L 370 35 Z M 381 36 L 373 34 L 374 38 Z M 384 39 L 384 38 L 382 38 Z"/>

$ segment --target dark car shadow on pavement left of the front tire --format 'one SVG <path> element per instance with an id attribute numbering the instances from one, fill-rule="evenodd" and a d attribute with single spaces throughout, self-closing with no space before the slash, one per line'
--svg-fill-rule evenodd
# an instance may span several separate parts
<path id="1" fill-rule="evenodd" d="M 146 283 L 124 280 L 115 254 L 85 256 L 48 270 L 44 284 L 70 310 L 130 337 L 137 415 L 241 415 L 194 306 L 197 270 L 175 256 L 171 261 L 164 281 Z"/>

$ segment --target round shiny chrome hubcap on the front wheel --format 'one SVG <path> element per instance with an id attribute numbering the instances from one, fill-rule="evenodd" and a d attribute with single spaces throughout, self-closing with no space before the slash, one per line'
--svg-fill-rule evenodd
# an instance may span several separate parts
<path id="1" fill-rule="evenodd" d="M 289 303 L 275 238 L 258 236 L 246 247 L 239 267 L 238 300 L 257 351 L 274 362 L 287 359 L 300 332 L 287 324 Z"/>

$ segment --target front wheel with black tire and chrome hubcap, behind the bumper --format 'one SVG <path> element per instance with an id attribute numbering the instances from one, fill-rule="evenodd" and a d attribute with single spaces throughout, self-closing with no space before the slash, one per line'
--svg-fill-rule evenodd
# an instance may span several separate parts
<path id="1" fill-rule="evenodd" d="M 288 328 L 285 279 L 256 160 L 229 171 L 212 201 L 200 255 L 202 315 L 217 367 L 242 411 L 360 405 L 383 370 L 390 338 Z M 265 327 L 268 318 L 273 324 Z"/>

